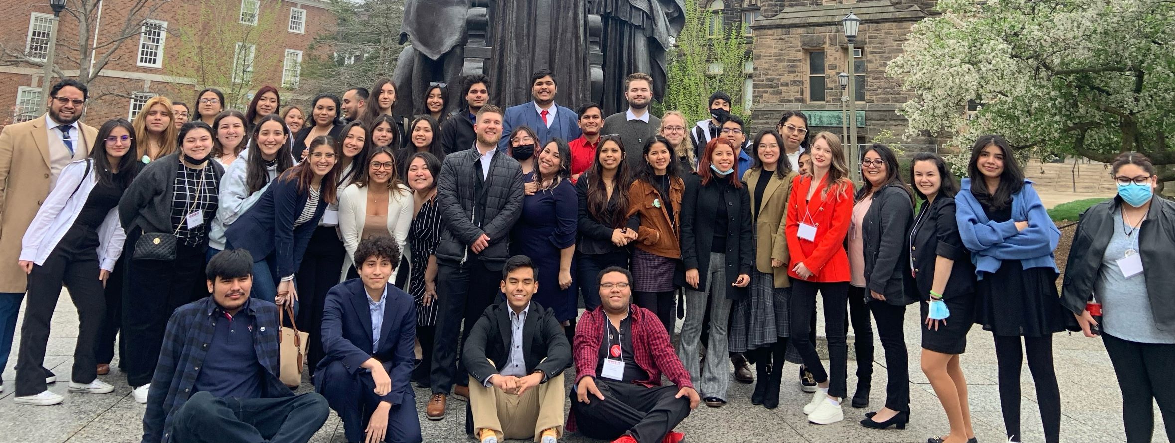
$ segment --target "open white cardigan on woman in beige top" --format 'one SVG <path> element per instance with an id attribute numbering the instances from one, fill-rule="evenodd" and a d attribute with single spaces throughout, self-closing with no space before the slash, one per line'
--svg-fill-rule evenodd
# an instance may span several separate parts
<path id="1" fill-rule="evenodd" d="M 398 190 L 398 192 L 396 192 Z M 412 226 L 412 192 L 404 184 L 388 194 L 388 231 L 400 246 L 400 254 L 408 256 L 408 230 Z M 347 280 L 347 271 L 354 264 L 355 249 L 360 246 L 360 237 L 363 235 L 363 224 L 367 222 L 367 188 L 358 184 L 350 184 L 338 196 L 338 231 L 343 240 L 343 248 L 347 256 L 343 259 L 342 275 L 340 281 Z M 389 282 L 396 281 L 396 275 L 401 271 L 400 263 L 392 263 Z"/>

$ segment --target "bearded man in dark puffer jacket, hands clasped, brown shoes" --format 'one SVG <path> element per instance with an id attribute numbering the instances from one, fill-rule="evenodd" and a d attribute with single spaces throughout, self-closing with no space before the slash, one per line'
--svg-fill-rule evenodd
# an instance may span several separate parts
<path id="1" fill-rule="evenodd" d="M 485 283 L 501 280 L 502 267 L 510 256 L 510 229 L 522 217 L 522 167 L 498 149 L 502 109 L 485 105 L 477 112 L 476 121 L 477 141 L 472 149 L 446 156 L 437 175 L 437 210 L 446 229 L 436 249 L 437 275 L 443 278 L 437 280 L 439 313 L 432 347 L 429 419 L 444 418 L 455 381 L 468 383 L 468 372 L 456 363 L 462 320 L 468 337 L 498 293 L 497 287 Z M 458 394 L 462 391 L 468 397 L 468 388 L 458 389 Z"/>

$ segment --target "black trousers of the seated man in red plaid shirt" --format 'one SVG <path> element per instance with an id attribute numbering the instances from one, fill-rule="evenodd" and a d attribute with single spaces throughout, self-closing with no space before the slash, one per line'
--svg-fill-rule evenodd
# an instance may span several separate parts
<path id="1" fill-rule="evenodd" d="M 579 434 L 598 439 L 615 439 L 624 434 L 639 443 L 657 443 L 690 415 L 690 398 L 674 398 L 680 389 L 670 384 L 645 388 L 639 384 L 596 378 L 604 400 L 591 396 L 580 403 L 571 390 L 571 414 Z"/>

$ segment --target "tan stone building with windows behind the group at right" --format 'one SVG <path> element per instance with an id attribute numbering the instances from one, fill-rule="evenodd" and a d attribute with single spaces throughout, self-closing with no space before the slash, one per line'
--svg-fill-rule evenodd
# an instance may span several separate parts
<path id="1" fill-rule="evenodd" d="M 847 72 L 848 45 L 840 20 L 852 11 L 861 19 L 854 43 L 857 74 L 858 142 L 889 129 L 900 135 L 906 119 L 895 113 L 908 100 L 886 66 L 902 52 L 915 22 L 933 16 L 933 0 L 726 0 L 739 12 L 751 4 L 759 16 L 753 21 L 752 120 L 757 128 L 774 127 L 779 114 L 800 109 L 812 130 L 840 134 L 841 89 L 837 79 Z M 850 119 L 853 121 L 854 119 Z M 912 143 L 935 145 L 920 137 Z"/>

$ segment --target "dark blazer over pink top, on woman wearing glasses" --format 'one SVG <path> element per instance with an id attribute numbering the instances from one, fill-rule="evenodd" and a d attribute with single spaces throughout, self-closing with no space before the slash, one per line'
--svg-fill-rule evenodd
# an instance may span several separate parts
<path id="1" fill-rule="evenodd" d="M 909 275 L 909 223 L 914 203 L 901 183 L 889 183 L 873 192 L 873 203 L 865 213 L 861 242 L 865 249 L 865 286 L 885 295 L 886 303 L 906 306 L 918 302 L 906 294 Z"/>

